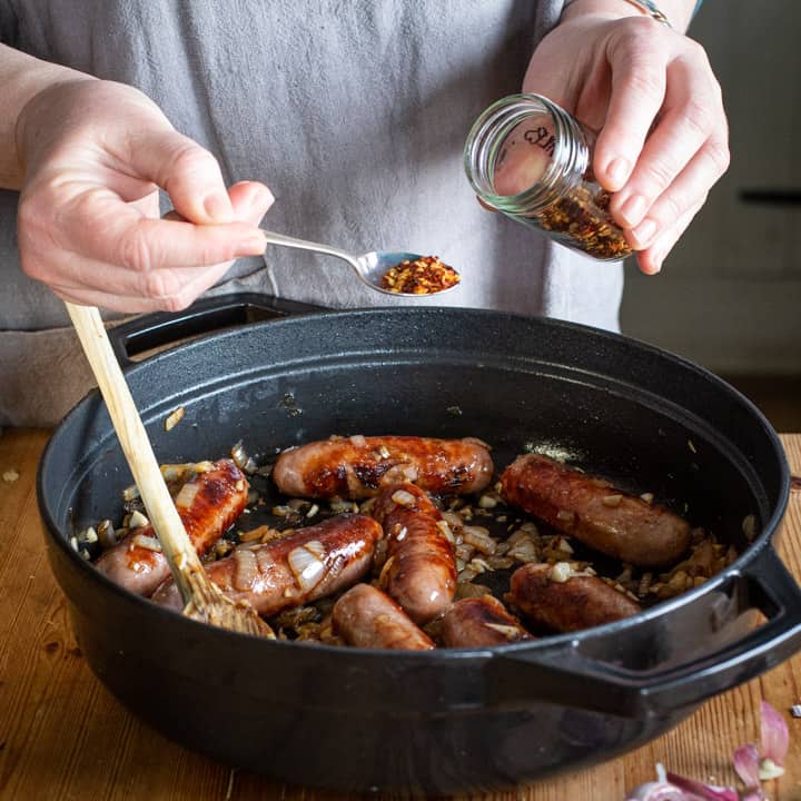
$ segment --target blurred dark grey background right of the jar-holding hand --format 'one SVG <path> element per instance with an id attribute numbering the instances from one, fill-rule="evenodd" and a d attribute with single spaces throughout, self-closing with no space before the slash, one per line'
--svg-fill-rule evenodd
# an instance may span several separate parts
<path id="1" fill-rule="evenodd" d="M 801 2 L 705 0 L 690 34 L 723 87 L 732 161 L 649 278 L 627 265 L 621 325 L 801 431 Z"/>

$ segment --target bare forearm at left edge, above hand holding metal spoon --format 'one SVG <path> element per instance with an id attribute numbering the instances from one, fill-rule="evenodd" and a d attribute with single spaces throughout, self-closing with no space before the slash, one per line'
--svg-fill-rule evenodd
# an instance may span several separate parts
<path id="1" fill-rule="evenodd" d="M 0 44 L 0 188 L 19 189 L 24 177 L 21 154 L 17 149 L 17 121 L 28 101 L 56 83 L 90 80 L 91 76 L 41 61 Z"/>

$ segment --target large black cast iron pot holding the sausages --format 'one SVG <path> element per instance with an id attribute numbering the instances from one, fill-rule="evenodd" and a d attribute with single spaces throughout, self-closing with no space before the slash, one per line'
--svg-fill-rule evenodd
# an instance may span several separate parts
<path id="1" fill-rule="evenodd" d="M 801 592 L 773 540 L 789 492 L 762 415 L 710 373 L 621 336 L 436 308 L 308 313 L 260 296 L 204 301 L 116 332 L 162 462 L 330 434 L 477 436 L 503 467 L 557 446 L 639 492 L 686 504 L 742 548 L 713 580 L 620 623 L 494 650 L 377 652 L 260 641 L 159 609 L 70 547 L 120 512 L 131 478 L 97 393 L 56 431 L 39 504 L 91 669 L 186 746 L 277 780 L 347 791 L 485 790 L 610 759 L 801 643 Z M 278 317 L 149 348 L 248 315 Z M 144 326 L 144 328 L 142 328 Z M 184 406 L 169 433 L 164 419 Z M 755 517 L 756 536 L 743 536 Z M 767 622 L 753 627 L 756 613 Z M 158 679 L 156 679 L 158 676 Z"/>

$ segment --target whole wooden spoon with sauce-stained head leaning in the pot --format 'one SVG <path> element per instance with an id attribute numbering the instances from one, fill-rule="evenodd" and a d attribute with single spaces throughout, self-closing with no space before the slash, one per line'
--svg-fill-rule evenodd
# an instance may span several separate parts
<path id="1" fill-rule="evenodd" d="M 100 313 L 92 306 L 76 306 L 71 303 L 66 305 L 106 400 L 111 423 L 139 487 L 150 523 L 184 599 L 184 614 L 221 629 L 274 637 L 273 630 L 250 606 L 237 604 L 226 597 L 206 575 L 161 477 L 139 412 L 108 340 Z"/>

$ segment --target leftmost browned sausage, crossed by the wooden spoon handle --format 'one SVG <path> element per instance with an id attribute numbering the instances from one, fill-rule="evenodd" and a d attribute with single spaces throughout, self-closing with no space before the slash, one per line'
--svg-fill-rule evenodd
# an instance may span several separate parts
<path id="1" fill-rule="evenodd" d="M 215 462 L 214 467 L 189 479 L 175 497 L 175 505 L 189 538 L 199 555 L 205 554 L 247 503 L 248 484 L 230 459 Z M 96 567 L 137 595 L 151 595 L 170 574 L 160 551 L 137 545 L 138 537 L 152 540 L 151 525 L 132 531 L 120 543 L 100 555 Z"/>

